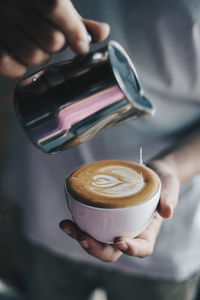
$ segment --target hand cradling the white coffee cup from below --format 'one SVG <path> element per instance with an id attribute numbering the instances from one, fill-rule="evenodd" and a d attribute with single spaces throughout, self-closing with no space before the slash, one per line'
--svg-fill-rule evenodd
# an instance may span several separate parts
<path id="1" fill-rule="evenodd" d="M 102 261 L 115 262 L 124 253 L 135 257 L 146 257 L 152 254 L 156 238 L 164 218 L 171 218 L 178 201 L 179 180 L 173 167 L 164 160 L 157 160 L 150 164 L 161 179 L 161 197 L 158 209 L 151 224 L 136 238 L 118 237 L 113 245 L 100 243 L 81 231 L 70 220 L 60 222 L 60 228 L 91 255 Z"/>

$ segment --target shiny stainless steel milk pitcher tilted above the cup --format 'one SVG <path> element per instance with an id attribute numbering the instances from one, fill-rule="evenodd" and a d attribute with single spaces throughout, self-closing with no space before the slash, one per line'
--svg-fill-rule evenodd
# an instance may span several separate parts
<path id="1" fill-rule="evenodd" d="M 115 41 L 47 66 L 15 89 L 17 117 L 36 147 L 57 153 L 127 119 L 153 115 L 135 68 Z"/>

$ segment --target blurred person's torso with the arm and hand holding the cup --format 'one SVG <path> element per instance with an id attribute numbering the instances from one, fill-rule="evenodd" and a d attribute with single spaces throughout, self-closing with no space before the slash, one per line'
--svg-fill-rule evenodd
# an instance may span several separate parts
<path id="1" fill-rule="evenodd" d="M 108 299 L 193 300 L 200 270 L 199 4 L 73 3 L 83 15 L 101 16 L 111 24 L 112 38 L 127 49 L 157 113 L 104 131 L 53 157 L 36 150 L 20 130 L 13 132 L 13 144 L 20 147 L 11 151 L 4 188 L 12 197 L 18 195 L 24 211 L 31 297 L 83 300 L 102 286 Z M 57 224 L 67 217 L 67 174 L 100 159 L 137 161 L 141 145 L 144 161 L 162 181 L 160 206 L 149 228 L 133 240 L 120 237 L 112 247 L 63 221 L 61 228 L 74 239 L 65 237 Z"/>

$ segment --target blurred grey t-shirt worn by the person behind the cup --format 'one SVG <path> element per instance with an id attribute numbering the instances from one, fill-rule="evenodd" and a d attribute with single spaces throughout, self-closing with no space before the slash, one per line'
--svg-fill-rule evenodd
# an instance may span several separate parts
<path id="1" fill-rule="evenodd" d="M 200 176 L 182 186 L 173 219 L 164 222 L 153 255 L 143 260 L 123 255 L 118 262 L 105 264 L 58 227 L 69 217 L 63 185 L 72 169 L 99 159 L 138 161 L 140 146 L 144 160 L 149 159 L 200 119 L 200 4 L 188 2 L 74 1 L 86 16 L 111 23 L 111 37 L 131 56 L 157 113 L 105 130 L 91 142 L 55 156 L 35 149 L 16 126 L 4 188 L 10 196 L 19 196 L 25 234 L 31 241 L 63 256 L 133 274 L 182 280 L 200 269 Z"/>

